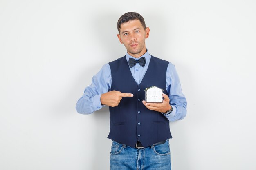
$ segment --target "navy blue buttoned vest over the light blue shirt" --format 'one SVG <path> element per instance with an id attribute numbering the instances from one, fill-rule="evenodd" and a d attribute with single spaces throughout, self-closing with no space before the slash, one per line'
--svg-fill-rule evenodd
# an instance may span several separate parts
<path id="1" fill-rule="evenodd" d="M 110 107 L 109 139 L 135 147 L 139 140 L 144 147 L 172 138 L 169 120 L 162 114 L 144 106 L 145 89 L 157 86 L 166 94 L 166 70 L 169 62 L 151 56 L 146 74 L 139 86 L 132 77 L 126 56 L 110 62 L 111 91 L 132 93 L 123 97 L 117 107 Z"/>

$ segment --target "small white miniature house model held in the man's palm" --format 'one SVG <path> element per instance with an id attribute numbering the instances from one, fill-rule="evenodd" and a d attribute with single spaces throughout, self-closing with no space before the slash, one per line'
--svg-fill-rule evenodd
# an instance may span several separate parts
<path id="1" fill-rule="evenodd" d="M 149 103 L 162 103 L 163 102 L 163 89 L 157 86 L 146 88 L 145 100 Z"/>

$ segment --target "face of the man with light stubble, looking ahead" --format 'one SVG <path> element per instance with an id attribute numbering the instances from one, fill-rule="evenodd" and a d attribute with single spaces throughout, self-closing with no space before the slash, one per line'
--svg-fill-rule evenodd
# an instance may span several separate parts
<path id="1" fill-rule="evenodd" d="M 121 24 L 120 34 L 117 34 L 117 37 L 121 44 L 124 44 L 128 54 L 138 58 L 146 53 L 145 39 L 148 35 L 148 27 L 144 30 L 139 20 L 130 20 Z"/>

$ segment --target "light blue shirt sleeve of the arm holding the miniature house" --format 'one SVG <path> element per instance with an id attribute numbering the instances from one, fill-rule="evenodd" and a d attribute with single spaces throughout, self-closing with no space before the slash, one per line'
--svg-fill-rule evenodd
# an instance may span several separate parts
<path id="1" fill-rule="evenodd" d="M 176 68 L 169 63 L 166 71 L 166 91 L 169 94 L 172 113 L 165 115 L 169 121 L 182 120 L 186 116 L 186 97 L 182 93 Z"/>

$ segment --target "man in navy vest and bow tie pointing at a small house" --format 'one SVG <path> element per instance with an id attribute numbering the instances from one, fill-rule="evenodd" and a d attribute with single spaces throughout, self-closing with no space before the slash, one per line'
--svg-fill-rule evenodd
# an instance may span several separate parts
<path id="1" fill-rule="evenodd" d="M 150 29 L 140 14 L 125 13 L 117 29 L 126 55 L 101 68 L 76 110 L 90 114 L 110 106 L 111 170 L 171 170 L 169 121 L 183 119 L 187 105 L 175 66 L 148 53 Z M 164 89 L 162 103 L 145 102 L 151 86 Z"/>

